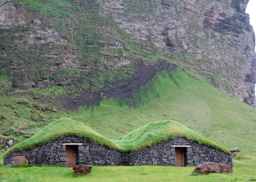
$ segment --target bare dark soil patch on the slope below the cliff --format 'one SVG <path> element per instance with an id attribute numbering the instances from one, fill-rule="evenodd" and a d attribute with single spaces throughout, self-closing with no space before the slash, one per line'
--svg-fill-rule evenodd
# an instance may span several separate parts
<path id="1" fill-rule="evenodd" d="M 88 89 L 86 91 L 82 91 L 80 93 L 79 97 L 64 97 L 59 98 L 62 100 L 62 103 L 60 103 L 65 111 L 76 111 L 79 106 L 84 105 L 94 105 L 99 103 L 101 99 L 101 93 L 103 96 L 108 98 L 130 98 L 133 99 L 133 92 L 134 90 L 139 90 L 140 86 L 145 85 L 149 81 L 152 80 L 152 78 L 155 76 L 157 72 L 166 70 L 176 70 L 177 66 L 170 64 L 167 61 L 158 61 L 154 62 L 148 65 L 140 64 L 137 67 L 136 76 L 132 77 L 131 79 L 125 80 L 126 85 L 118 86 L 121 82 L 117 80 L 117 82 L 113 83 L 114 89 L 108 89 L 106 84 L 103 89 L 92 92 L 91 89 Z M 73 103 L 74 99 L 77 101 L 76 103 Z M 56 102 L 58 102 L 56 100 Z"/>

